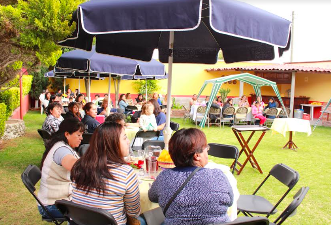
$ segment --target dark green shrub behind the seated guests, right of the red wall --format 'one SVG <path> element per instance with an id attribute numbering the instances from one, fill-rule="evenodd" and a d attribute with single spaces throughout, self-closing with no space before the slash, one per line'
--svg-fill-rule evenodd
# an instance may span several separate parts
<path id="1" fill-rule="evenodd" d="M 30 96 L 34 99 L 38 99 L 40 93 L 46 90 L 50 85 L 48 78 L 44 77 L 44 74 L 48 71 L 48 68 L 41 67 L 39 71 L 32 72 L 33 82 L 31 90 L 29 92 Z"/>

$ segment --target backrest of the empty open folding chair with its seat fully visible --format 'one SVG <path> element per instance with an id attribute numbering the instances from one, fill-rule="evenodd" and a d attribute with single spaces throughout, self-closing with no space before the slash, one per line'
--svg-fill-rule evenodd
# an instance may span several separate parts
<path id="1" fill-rule="evenodd" d="M 289 189 L 293 189 L 299 180 L 299 173 L 285 164 L 276 164 L 272 167 L 269 174 L 282 182 Z"/>

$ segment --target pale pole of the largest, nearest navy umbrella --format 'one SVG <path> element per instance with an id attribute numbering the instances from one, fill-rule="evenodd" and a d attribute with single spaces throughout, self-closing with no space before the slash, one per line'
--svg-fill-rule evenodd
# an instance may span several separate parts
<path id="1" fill-rule="evenodd" d="M 169 140 L 173 133 L 173 130 L 170 128 L 170 114 L 171 114 L 171 82 L 173 76 L 173 49 L 174 49 L 174 31 L 170 31 L 169 36 L 169 49 L 172 51 L 169 56 L 168 61 L 168 98 L 167 98 L 167 123 L 166 127 L 163 130 L 164 143 L 166 144 L 164 148 L 168 150 Z"/>

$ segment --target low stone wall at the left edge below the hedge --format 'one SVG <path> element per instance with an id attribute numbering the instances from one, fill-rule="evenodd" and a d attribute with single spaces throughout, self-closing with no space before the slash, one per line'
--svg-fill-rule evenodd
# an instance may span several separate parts
<path id="1" fill-rule="evenodd" d="M 6 121 L 4 136 L 2 140 L 9 140 L 25 135 L 25 124 L 23 120 L 9 119 Z"/>

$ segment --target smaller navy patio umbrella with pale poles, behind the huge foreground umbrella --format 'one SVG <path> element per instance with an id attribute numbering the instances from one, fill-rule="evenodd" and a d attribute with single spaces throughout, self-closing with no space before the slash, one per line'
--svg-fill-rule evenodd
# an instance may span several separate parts
<path id="1" fill-rule="evenodd" d="M 153 79 L 154 76 L 164 77 L 166 75 L 164 65 L 155 59 L 146 62 L 100 54 L 95 51 L 95 46 L 92 46 L 91 52 L 76 49 L 62 54 L 56 62 L 55 70 L 59 70 L 59 72 L 74 71 L 74 76 L 87 77 L 89 79 L 93 77 L 109 77 L 109 96 L 111 77 L 127 76 L 128 79 L 140 76 L 141 79 Z M 89 99 L 91 99 L 90 88 L 88 95 Z M 110 98 L 108 98 L 108 105 L 110 106 Z"/>

